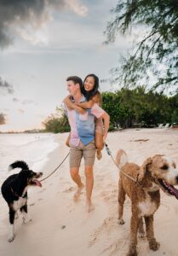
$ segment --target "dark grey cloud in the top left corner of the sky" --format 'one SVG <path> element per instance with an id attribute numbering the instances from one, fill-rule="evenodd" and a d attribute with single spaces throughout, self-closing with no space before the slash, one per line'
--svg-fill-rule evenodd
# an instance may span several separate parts
<path id="1" fill-rule="evenodd" d="M 51 19 L 52 12 L 71 9 L 80 16 L 88 9 L 79 0 L 0 0 L 0 48 L 13 44 L 14 38 L 23 38 L 32 43 L 32 34 Z M 45 38 L 37 35 L 35 44 Z"/>

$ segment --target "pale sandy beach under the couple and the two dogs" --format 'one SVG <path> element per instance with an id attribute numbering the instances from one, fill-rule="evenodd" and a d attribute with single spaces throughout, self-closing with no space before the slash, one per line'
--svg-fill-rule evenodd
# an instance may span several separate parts
<path id="1" fill-rule="evenodd" d="M 46 177 L 60 165 L 69 152 L 65 145 L 67 136 L 68 133 L 54 136 L 57 146 L 51 149 L 43 166 L 34 165 L 34 172 L 43 172 Z M 178 131 L 172 129 L 114 131 L 108 134 L 106 143 L 113 157 L 123 148 L 129 161 L 138 165 L 154 154 L 166 154 L 178 166 Z M 83 167 L 82 162 L 80 174 L 85 183 Z M 70 177 L 68 158 L 43 181 L 42 188 L 29 189 L 28 211 L 32 221 L 21 225 L 21 218 L 15 220 L 16 236 L 12 243 L 8 242 L 9 209 L 0 195 L 0 256 L 126 255 L 130 201 L 126 198 L 124 204 L 125 224 L 118 225 L 118 168 L 105 148 L 102 159 L 95 160 L 94 176 L 93 212 L 86 212 L 85 189 L 78 202 L 72 199 L 76 186 Z M 146 238 L 138 238 L 139 255 L 178 255 L 177 217 L 178 201 L 161 192 L 161 206 L 154 215 L 155 237 L 160 248 L 152 252 Z"/>

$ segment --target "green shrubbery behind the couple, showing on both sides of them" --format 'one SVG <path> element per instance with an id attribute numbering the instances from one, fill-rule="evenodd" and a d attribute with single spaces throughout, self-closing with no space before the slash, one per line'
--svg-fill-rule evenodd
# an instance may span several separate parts
<path id="1" fill-rule="evenodd" d="M 168 97 L 152 90 L 146 92 L 145 87 L 106 91 L 102 93 L 102 108 L 110 115 L 109 131 L 117 124 L 122 128 L 155 127 L 162 123 L 178 125 L 178 94 Z M 48 132 L 70 131 L 66 113 L 61 108 L 56 108 L 56 113 L 43 125 Z"/>

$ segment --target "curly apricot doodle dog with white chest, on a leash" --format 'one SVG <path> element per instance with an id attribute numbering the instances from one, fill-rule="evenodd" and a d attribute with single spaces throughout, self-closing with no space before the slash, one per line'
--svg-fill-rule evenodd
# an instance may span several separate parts
<path id="1" fill-rule="evenodd" d="M 153 214 L 160 205 L 160 191 L 162 189 L 168 195 L 175 195 L 178 199 L 178 170 L 175 162 L 168 157 L 156 154 L 144 161 L 142 166 L 129 163 L 127 154 L 118 150 L 116 163 L 120 169 L 118 182 L 118 223 L 123 221 L 123 203 L 125 195 L 131 200 L 132 216 L 130 220 L 129 256 L 137 255 L 137 231 L 144 236 L 143 220 L 145 218 L 146 237 L 149 247 L 157 251 L 159 243 L 154 237 Z M 135 179 L 132 180 L 129 177 Z"/>

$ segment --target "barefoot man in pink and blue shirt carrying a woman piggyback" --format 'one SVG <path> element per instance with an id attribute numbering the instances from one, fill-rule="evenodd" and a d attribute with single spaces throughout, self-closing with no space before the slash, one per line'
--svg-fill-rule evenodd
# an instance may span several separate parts
<path id="1" fill-rule="evenodd" d="M 83 86 L 82 79 L 72 76 L 66 79 L 67 90 L 72 96 L 74 102 L 84 102 L 85 98 L 81 93 Z M 78 113 L 75 109 L 66 107 L 67 117 L 71 126 L 70 137 L 70 172 L 72 180 L 78 185 L 74 194 L 74 200 L 77 201 L 84 187 L 79 175 L 79 167 L 84 158 L 85 177 L 86 177 L 86 207 L 87 212 L 94 210 L 91 201 L 92 189 L 94 185 L 93 166 L 95 163 L 95 117 L 104 119 L 105 125 L 109 126 L 109 115 L 94 104 L 91 109 L 85 113 Z"/>

